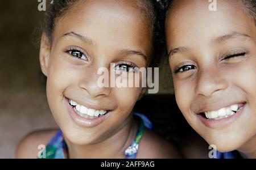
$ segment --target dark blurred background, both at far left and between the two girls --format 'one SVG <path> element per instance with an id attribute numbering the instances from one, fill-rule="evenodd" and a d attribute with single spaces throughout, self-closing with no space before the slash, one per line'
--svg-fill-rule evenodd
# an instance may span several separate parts
<path id="1" fill-rule="evenodd" d="M 24 135 L 56 128 L 39 67 L 44 11 L 37 0 L 0 1 L 0 158 L 14 158 Z M 135 107 L 154 120 L 154 131 L 174 143 L 189 131 L 176 106 L 167 62 L 160 66 L 160 91 Z"/>

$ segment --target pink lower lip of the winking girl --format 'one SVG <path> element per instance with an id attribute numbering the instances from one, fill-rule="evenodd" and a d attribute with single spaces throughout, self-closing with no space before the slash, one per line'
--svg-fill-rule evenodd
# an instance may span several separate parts
<path id="1" fill-rule="evenodd" d="M 242 108 L 240 108 L 240 110 L 237 113 L 233 114 L 232 116 L 222 118 L 220 120 L 209 120 L 200 114 L 198 114 L 197 116 L 209 128 L 213 128 L 213 129 L 224 128 L 225 126 L 228 126 L 232 122 L 234 122 L 242 114 L 243 110 L 245 109 L 245 106 L 246 104 L 244 104 Z"/>

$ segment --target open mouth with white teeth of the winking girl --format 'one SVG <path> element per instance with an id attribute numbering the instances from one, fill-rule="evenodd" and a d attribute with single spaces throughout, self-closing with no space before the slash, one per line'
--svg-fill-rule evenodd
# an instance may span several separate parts
<path id="1" fill-rule="evenodd" d="M 233 116 L 237 112 L 239 112 L 246 103 L 243 104 L 234 104 L 230 107 L 221 108 L 218 111 L 210 111 L 199 113 L 202 117 L 206 118 L 207 120 L 221 120 L 223 118 L 228 118 Z"/>

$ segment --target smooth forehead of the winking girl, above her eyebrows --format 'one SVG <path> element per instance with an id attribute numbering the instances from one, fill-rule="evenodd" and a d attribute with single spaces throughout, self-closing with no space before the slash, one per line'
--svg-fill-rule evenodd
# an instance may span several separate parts
<path id="1" fill-rule="evenodd" d="M 205 43 L 232 32 L 255 39 L 254 21 L 239 3 L 217 1 L 217 11 L 210 11 L 209 5 L 210 2 L 203 0 L 177 1 L 167 17 L 167 41 L 172 46 L 184 45 L 184 42 L 189 46 L 199 39 Z"/>

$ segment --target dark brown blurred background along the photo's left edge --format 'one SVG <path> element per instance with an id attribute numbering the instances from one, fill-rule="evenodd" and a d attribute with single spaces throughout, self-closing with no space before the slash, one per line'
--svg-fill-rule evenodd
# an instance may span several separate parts
<path id="1" fill-rule="evenodd" d="M 0 1 L 0 158 L 31 131 L 56 127 L 40 74 L 36 32 L 44 12 L 37 0 Z"/>

